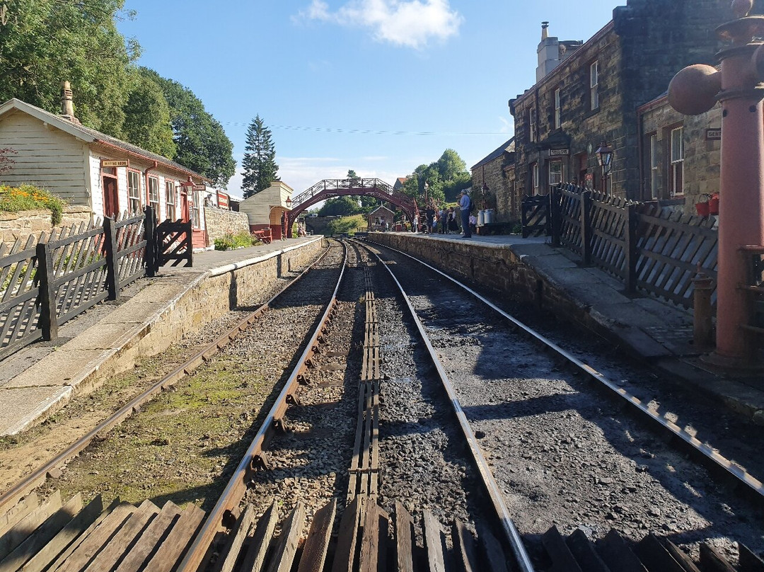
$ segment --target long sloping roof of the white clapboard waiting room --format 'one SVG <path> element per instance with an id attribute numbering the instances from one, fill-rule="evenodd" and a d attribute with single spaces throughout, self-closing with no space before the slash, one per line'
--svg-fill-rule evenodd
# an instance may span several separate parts
<path id="1" fill-rule="evenodd" d="M 117 148 L 118 150 L 125 151 L 128 154 L 138 155 L 139 157 L 148 159 L 149 161 L 157 161 L 158 164 L 161 164 L 165 167 L 170 167 L 175 171 L 180 171 L 193 177 L 205 180 L 208 183 L 212 183 L 212 180 L 208 179 L 207 177 L 191 171 L 188 167 L 183 167 L 183 165 L 180 163 L 170 161 L 170 159 L 167 157 L 163 157 L 157 153 L 152 153 L 151 151 L 146 151 L 145 149 L 138 147 L 138 145 L 133 145 L 127 141 L 121 141 L 121 139 L 112 137 L 111 135 L 106 135 L 105 133 L 96 131 L 95 129 L 91 129 L 85 125 L 79 125 L 77 123 L 70 122 L 68 119 L 63 119 L 63 117 L 60 115 L 47 112 L 44 109 L 31 105 L 31 103 L 21 101 L 21 99 L 8 99 L 7 102 L 0 105 L 0 116 L 4 115 L 6 112 L 11 111 L 11 109 L 18 109 L 21 112 L 32 115 L 33 117 L 40 119 L 40 121 L 47 122 L 50 125 L 59 128 L 61 131 L 69 133 L 70 135 L 86 141 L 87 143 L 96 143 L 105 145 L 107 147 Z"/>

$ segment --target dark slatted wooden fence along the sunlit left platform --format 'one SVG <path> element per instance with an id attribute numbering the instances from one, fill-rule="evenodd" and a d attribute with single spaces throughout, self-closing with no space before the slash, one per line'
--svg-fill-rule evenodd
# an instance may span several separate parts
<path id="1" fill-rule="evenodd" d="M 154 276 L 161 259 L 155 227 L 147 207 L 139 216 L 0 245 L 0 359 L 34 341 L 55 340 L 66 321 Z"/>

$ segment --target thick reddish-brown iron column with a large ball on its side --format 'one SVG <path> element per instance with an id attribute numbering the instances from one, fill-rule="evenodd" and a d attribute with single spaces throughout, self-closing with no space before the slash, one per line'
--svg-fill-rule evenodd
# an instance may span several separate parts
<path id="1" fill-rule="evenodd" d="M 746 276 L 740 247 L 764 244 L 764 16 L 749 15 L 753 0 L 734 0 L 736 19 L 717 33 L 731 41 L 717 57 L 721 70 L 685 67 L 669 85 L 669 103 L 685 115 L 722 105 L 717 281 L 717 343 L 711 361 L 746 365 Z"/>

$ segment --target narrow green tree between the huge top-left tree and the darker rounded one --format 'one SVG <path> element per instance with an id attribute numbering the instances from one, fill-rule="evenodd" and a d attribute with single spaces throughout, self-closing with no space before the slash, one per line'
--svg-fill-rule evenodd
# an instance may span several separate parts
<path id="1" fill-rule="evenodd" d="M 139 73 L 135 76 L 125 104 L 125 138 L 147 151 L 173 159 L 177 147 L 170 125 L 170 106 L 162 88 L 147 76 Z"/>

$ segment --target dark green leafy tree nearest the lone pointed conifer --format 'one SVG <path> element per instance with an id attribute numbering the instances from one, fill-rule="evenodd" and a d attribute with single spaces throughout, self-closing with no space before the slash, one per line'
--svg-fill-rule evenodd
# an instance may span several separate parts
<path id="1" fill-rule="evenodd" d="M 225 188 L 236 172 L 234 145 L 225 135 L 222 125 L 210 115 L 202 101 L 180 83 L 160 76 L 154 70 L 140 68 L 141 76 L 154 81 L 162 89 L 170 106 L 173 141 L 176 152 L 173 161 L 196 171 Z"/>

